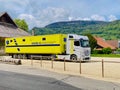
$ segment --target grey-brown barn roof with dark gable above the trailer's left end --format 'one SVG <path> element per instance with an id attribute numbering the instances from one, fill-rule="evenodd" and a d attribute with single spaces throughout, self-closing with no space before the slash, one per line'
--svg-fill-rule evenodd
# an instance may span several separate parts
<path id="1" fill-rule="evenodd" d="M 6 13 L 0 13 L 0 37 L 29 36 L 30 34 L 17 27 L 12 18 Z"/>

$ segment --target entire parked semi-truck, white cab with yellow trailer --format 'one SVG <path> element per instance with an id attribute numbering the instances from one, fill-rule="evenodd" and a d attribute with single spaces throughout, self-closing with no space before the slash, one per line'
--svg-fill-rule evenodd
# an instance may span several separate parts
<path id="1" fill-rule="evenodd" d="M 89 39 L 76 34 L 51 34 L 6 38 L 5 52 L 14 58 L 31 55 L 55 56 L 59 59 L 90 59 Z"/>

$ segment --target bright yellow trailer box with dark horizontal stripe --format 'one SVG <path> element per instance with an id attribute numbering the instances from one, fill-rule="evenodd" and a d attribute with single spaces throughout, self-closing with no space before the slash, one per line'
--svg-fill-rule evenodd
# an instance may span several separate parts
<path id="1" fill-rule="evenodd" d="M 65 34 L 6 38 L 8 54 L 63 54 L 66 50 Z"/>

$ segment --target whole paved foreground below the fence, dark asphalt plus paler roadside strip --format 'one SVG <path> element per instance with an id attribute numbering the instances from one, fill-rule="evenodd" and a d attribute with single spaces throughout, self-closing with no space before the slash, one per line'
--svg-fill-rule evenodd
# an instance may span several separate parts
<path id="1" fill-rule="evenodd" d="M 0 90 L 120 90 L 120 83 L 0 64 Z"/>

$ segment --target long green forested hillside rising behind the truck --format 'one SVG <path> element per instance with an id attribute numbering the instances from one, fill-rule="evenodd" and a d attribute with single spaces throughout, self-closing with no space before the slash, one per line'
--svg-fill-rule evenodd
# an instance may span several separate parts
<path id="1" fill-rule="evenodd" d="M 35 35 L 54 33 L 76 33 L 101 36 L 105 39 L 120 39 L 120 21 L 66 21 L 56 22 L 44 28 L 34 27 Z"/>

